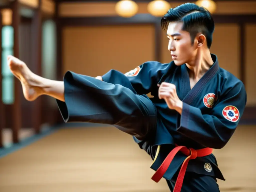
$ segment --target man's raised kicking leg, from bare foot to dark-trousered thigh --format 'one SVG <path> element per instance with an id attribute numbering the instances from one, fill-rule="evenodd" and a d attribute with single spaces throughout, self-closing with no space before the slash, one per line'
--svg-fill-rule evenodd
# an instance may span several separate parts
<path id="1" fill-rule="evenodd" d="M 65 122 L 109 124 L 139 140 L 154 134 L 157 120 L 154 104 L 146 95 L 137 95 L 121 73 L 116 78 L 123 85 L 70 71 L 63 81 L 53 81 L 32 73 L 15 57 L 9 56 L 8 63 L 22 83 L 24 97 L 29 101 L 43 94 L 56 98 Z"/>

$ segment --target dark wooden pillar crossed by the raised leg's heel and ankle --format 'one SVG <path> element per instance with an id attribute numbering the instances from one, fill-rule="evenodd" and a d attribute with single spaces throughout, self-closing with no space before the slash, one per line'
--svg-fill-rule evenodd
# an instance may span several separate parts
<path id="1" fill-rule="evenodd" d="M 38 8 L 35 10 L 34 16 L 32 18 L 31 25 L 31 63 L 33 65 L 33 72 L 39 76 L 42 76 L 42 66 L 41 66 L 41 47 L 42 47 L 42 13 L 41 13 L 41 0 L 38 1 Z M 32 125 L 36 133 L 40 133 L 41 127 L 41 97 L 38 97 L 33 102 L 32 107 Z"/>

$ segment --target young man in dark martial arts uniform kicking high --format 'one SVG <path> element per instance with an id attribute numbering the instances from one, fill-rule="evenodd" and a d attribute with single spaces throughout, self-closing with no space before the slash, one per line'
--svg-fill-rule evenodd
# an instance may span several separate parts
<path id="1" fill-rule="evenodd" d="M 216 178 L 224 178 L 212 148 L 224 147 L 234 133 L 246 105 L 244 85 L 210 54 L 214 21 L 207 10 L 186 3 L 161 24 L 170 63 L 149 61 L 97 79 L 68 71 L 63 82 L 37 76 L 12 56 L 9 66 L 25 98 L 56 98 L 65 122 L 111 124 L 132 135 L 153 159 L 154 181 L 165 178 L 175 192 L 219 191 Z"/>

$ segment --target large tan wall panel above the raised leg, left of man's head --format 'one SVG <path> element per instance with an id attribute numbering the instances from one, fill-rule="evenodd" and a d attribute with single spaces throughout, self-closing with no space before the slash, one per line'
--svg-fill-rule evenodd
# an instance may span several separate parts
<path id="1" fill-rule="evenodd" d="M 152 25 L 66 27 L 63 30 L 63 74 L 67 70 L 96 77 L 110 69 L 123 73 L 154 60 Z"/>

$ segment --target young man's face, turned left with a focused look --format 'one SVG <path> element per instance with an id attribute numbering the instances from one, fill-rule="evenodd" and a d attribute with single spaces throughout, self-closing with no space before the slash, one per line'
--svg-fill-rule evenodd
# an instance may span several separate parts
<path id="1" fill-rule="evenodd" d="M 190 34 L 182 27 L 181 22 L 170 22 L 167 29 L 168 50 L 177 66 L 190 63 L 196 56 L 196 43 L 191 45 Z"/>

